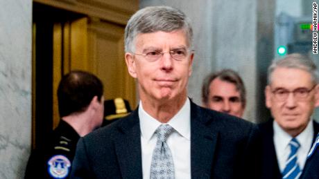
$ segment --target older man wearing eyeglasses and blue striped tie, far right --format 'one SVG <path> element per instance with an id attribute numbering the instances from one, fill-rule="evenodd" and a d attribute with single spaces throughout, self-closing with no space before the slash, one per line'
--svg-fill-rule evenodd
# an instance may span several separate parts
<path id="1" fill-rule="evenodd" d="M 311 115 L 318 106 L 316 65 L 300 54 L 273 61 L 268 68 L 266 106 L 273 120 L 263 133 L 263 178 L 300 178 L 319 125 Z"/>

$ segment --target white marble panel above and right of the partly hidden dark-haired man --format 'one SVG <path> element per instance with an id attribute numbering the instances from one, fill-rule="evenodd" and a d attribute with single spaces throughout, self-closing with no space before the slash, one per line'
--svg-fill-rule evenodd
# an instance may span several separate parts
<path id="1" fill-rule="evenodd" d="M 257 1 L 216 0 L 214 19 L 216 69 L 232 68 L 241 75 L 247 91 L 244 118 L 255 121 Z"/>

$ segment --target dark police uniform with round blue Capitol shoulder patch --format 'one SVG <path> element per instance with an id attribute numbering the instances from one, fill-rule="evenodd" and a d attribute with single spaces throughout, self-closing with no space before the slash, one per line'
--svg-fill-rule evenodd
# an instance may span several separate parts
<path id="1" fill-rule="evenodd" d="M 50 134 L 42 149 L 34 149 L 26 166 L 25 178 L 69 178 L 80 135 L 64 120 Z"/>

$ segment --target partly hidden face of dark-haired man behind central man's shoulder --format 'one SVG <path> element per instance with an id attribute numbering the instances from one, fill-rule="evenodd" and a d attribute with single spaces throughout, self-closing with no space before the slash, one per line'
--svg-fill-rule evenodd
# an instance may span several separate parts
<path id="1" fill-rule="evenodd" d="M 225 82 L 216 77 L 209 85 L 209 95 L 206 107 L 242 117 L 245 107 L 235 84 Z"/>

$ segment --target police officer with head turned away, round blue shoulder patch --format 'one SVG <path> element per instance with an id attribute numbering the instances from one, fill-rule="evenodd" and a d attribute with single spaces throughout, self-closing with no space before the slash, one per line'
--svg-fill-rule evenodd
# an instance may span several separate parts
<path id="1" fill-rule="evenodd" d="M 72 71 L 58 86 L 60 123 L 44 147 L 31 152 L 25 178 L 68 178 L 80 137 L 103 122 L 103 84 L 84 71 Z"/>

